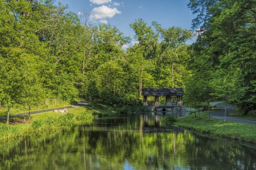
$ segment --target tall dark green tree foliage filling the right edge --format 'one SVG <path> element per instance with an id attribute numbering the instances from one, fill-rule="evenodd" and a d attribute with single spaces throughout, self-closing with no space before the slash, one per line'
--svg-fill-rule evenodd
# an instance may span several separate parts
<path id="1" fill-rule="evenodd" d="M 198 28 L 193 67 L 201 66 L 198 59 L 210 63 L 204 71 L 214 74 L 203 79 L 214 89 L 211 94 L 235 103 L 244 114 L 256 108 L 255 4 L 255 0 L 190 0 L 188 5 L 197 14 L 192 21 Z"/>

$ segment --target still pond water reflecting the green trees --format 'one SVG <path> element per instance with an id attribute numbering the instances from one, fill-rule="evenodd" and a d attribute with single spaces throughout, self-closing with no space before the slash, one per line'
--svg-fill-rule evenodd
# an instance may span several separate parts
<path id="1" fill-rule="evenodd" d="M 256 147 L 163 130 L 162 116 L 105 117 L 0 149 L 1 170 L 255 170 Z M 6 146 L 7 147 L 7 146 Z"/>

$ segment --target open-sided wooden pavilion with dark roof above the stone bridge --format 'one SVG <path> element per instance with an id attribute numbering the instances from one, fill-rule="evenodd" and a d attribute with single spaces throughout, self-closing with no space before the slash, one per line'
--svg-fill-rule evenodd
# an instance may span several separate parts
<path id="1" fill-rule="evenodd" d="M 143 88 L 143 105 L 145 106 L 183 106 L 183 88 Z M 148 96 L 154 96 L 154 102 L 148 102 Z M 166 102 L 160 103 L 159 96 L 166 96 Z"/>

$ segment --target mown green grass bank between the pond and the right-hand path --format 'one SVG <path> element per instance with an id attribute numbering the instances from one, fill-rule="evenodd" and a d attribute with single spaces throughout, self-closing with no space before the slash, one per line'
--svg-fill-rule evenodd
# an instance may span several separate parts
<path id="1" fill-rule="evenodd" d="M 256 143 L 256 126 L 236 122 L 223 122 L 220 119 L 211 118 L 207 121 L 207 113 L 201 113 L 200 118 L 194 114 L 177 119 L 176 126 L 195 130 L 199 133 L 212 134 L 244 142 Z"/>

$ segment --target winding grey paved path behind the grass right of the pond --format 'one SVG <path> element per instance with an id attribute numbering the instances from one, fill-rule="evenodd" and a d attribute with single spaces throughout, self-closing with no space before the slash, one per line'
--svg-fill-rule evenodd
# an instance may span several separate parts
<path id="1" fill-rule="evenodd" d="M 210 104 L 216 105 L 219 107 L 224 107 L 223 109 L 219 111 L 215 111 L 210 113 L 210 116 L 216 119 L 222 119 L 224 120 L 224 115 L 225 115 L 225 105 L 219 104 L 220 102 L 211 102 Z M 236 108 L 234 106 L 227 105 L 227 113 L 226 113 L 226 120 L 232 121 L 232 122 L 238 122 L 238 123 L 245 123 L 245 124 L 250 124 L 250 125 L 256 125 L 256 121 L 253 120 L 246 120 L 246 119 L 239 119 L 235 117 L 229 116 L 230 111 L 235 110 Z"/>

